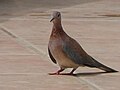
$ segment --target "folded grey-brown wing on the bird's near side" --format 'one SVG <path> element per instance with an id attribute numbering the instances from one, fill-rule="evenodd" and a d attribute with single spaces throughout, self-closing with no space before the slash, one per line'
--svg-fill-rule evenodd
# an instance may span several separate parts
<path id="1" fill-rule="evenodd" d="M 96 61 L 73 39 L 63 44 L 63 52 L 76 64 L 95 67 Z"/>

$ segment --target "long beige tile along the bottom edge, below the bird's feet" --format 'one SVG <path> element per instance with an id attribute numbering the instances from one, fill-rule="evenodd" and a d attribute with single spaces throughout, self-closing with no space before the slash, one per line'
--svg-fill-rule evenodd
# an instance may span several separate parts
<path id="1" fill-rule="evenodd" d="M 90 90 L 85 84 L 71 77 L 51 77 L 48 75 L 0 75 L 0 88 L 10 90 Z"/>

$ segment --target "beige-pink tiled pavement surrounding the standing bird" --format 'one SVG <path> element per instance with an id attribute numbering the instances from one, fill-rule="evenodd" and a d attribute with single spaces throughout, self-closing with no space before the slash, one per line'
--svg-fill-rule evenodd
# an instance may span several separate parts
<path id="1" fill-rule="evenodd" d="M 62 12 L 65 31 L 90 55 L 118 71 L 119 5 L 120 0 L 101 0 L 57 9 Z M 43 10 L 37 7 L 0 23 L 0 89 L 119 90 L 119 72 L 99 73 L 86 67 L 79 68 L 76 77 L 48 75 L 58 69 L 47 53 L 50 14 L 56 9 Z"/>

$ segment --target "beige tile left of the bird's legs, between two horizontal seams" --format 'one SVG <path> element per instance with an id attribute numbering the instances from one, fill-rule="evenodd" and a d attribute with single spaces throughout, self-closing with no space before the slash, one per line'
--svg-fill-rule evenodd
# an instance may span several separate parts
<path id="1" fill-rule="evenodd" d="M 46 63 L 47 62 L 47 63 Z M 35 73 L 47 74 L 52 65 L 38 55 L 1 55 L 0 74 Z M 52 70 L 52 67 L 51 67 Z M 43 72 L 44 71 L 44 72 Z"/>

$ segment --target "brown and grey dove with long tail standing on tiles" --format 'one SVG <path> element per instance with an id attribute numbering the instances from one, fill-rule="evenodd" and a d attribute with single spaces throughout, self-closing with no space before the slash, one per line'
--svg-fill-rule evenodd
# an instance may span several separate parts
<path id="1" fill-rule="evenodd" d="M 59 11 L 53 12 L 50 22 L 53 22 L 53 27 L 48 43 L 48 54 L 60 69 L 49 75 L 62 75 L 61 72 L 67 68 L 72 68 L 72 71 L 66 74 L 74 75 L 74 71 L 80 66 L 98 68 L 105 72 L 118 72 L 87 54 L 81 45 L 63 30 Z"/>

